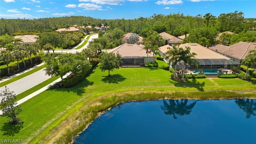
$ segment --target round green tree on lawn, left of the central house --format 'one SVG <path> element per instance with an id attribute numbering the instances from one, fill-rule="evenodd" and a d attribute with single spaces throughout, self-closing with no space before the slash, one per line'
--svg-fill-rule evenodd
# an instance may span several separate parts
<path id="1" fill-rule="evenodd" d="M 113 71 L 115 68 L 118 69 L 122 60 L 119 53 L 115 55 L 112 52 L 102 52 L 100 54 L 99 62 L 101 71 L 104 72 L 105 70 L 108 70 L 108 76 L 110 76 L 110 70 Z"/>

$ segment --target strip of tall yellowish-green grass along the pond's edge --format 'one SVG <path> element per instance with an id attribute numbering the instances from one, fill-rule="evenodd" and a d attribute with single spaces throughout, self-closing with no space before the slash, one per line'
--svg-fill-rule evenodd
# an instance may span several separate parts
<path id="1" fill-rule="evenodd" d="M 134 101 L 142 102 L 142 101 L 148 101 L 148 100 L 163 100 L 163 99 L 174 99 L 174 100 L 180 100 L 180 99 L 188 99 L 188 100 L 225 100 L 226 99 L 226 100 L 230 100 L 230 99 L 236 99 L 236 98 L 256 99 L 256 95 L 252 91 L 249 94 L 248 94 L 248 91 L 236 91 L 236 92 L 232 91 L 232 92 L 230 92 L 228 90 L 225 90 L 225 91 L 223 91 L 223 90 L 222 91 L 207 91 L 207 92 L 201 92 L 201 94 L 212 93 L 212 92 L 213 93 L 214 92 L 215 93 L 216 92 L 217 93 L 218 92 L 232 93 L 232 94 L 235 94 L 235 96 L 227 96 L 227 97 L 221 96 L 221 97 L 218 97 L 218 98 L 217 97 L 212 98 L 212 96 L 207 96 L 205 98 L 202 98 L 202 97 L 197 97 L 196 98 L 196 97 L 191 97 L 191 96 L 186 96 L 186 97 L 182 96 L 182 97 L 178 97 L 178 98 L 176 97 L 177 94 L 185 94 L 185 95 L 187 94 L 188 95 L 188 94 L 198 93 L 198 92 L 195 92 L 195 91 L 192 91 L 192 92 L 172 92 L 171 94 L 166 93 L 166 92 L 138 92 L 136 94 L 134 94 L 134 93 L 133 94 L 111 94 L 111 95 L 106 95 L 106 96 L 100 96 L 100 97 L 98 97 L 94 100 L 87 101 L 87 102 L 82 102 L 83 107 L 80 108 L 79 110 L 77 110 L 76 111 L 77 113 L 74 113 L 72 116 L 69 116 L 67 118 L 67 121 L 70 121 L 68 125 L 65 125 L 64 124 L 65 122 L 61 122 L 62 124 L 60 124 L 60 125 L 62 125 L 62 126 L 58 127 L 59 130 L 62 130 L 61 134 L 60 133 L 56 134 L 54 137 L 50 138 L 50 141 L 51 142 L 56 142 L 58 139 L 61 139 L 62 136 L 60 136 L 60 135 L 65 135 L 66 134 L 67 130 L 70 130 L 70 131 L 74 130 L 73 129 L 74 126 L 72 126 L 72 124 L 74 124 L 74 125 L 81 124 L 82 122 L 80 121 L 80 118 L 82 119 L 82 117 L 83 117 L 82 116 L 83 115 L 82 111 L 83 110 L 88 110 L 88 107 L 92 108 L 92 111 L 94 111 L 94 110 L 97 111 L 96 107 L 97 106 L 102 106 L 102 105 L 105 106 L 105 107 L 108 107 L 108 108 L 104 108 L 104 110 L 102 110 L 100 112 L 97 112 L 97 116 L 95 116 L 93 118 L 93 120 L 91 120 L 90 122 L 84 124 L 82 130 L 80 129 L 78 133 L 76 133 L 74 136 L 72 136 L 71 140 L 68 143 L 72 144 L 74 142 L 74 138 L 77 137 L 79 134 L 81 134 L 84 130 L 86 130 L 86 128 L 88 128 L 88 126 L 92 122 L 94 122 L 94 120 L 96 118 L 98 118 L 101 114 L 110 110 L 111 108 L 114 108 L 118 104 L 125 103 L 125 102 L 134 102 Z M 153 96 L 151 98 L 143 98 L 141 96 L 137 97 L 140 94 L 144 94 L 144 95 L 152 95 L 152 94 L 153 95 L 154 94 L 156 94 L 156 95 L 158 95 L 158 94 L 168 95 L 169 94 L 169 95 L 174 95 L 176 98 L 172 97 L 172 96 L 164 96 L 164 97 L 160 97 L 160 98 L 159 98 L 159 96 Z M 224 95 L 224 94 L 222 94 L 222 95 Z M 250 96 L 246 96 L 246 95 L 250 95 Z M 135 96 L 136 100 L 126 99 L 129 96 Z M 108 99 L 112 99 L 112 98 L 116 98 L 119 101 L 114 102 L 114 104 L 102 104 L 104 102 L 101 102 L 101 101 L 105 101 L 105 100 L 108 101 Z M 108 102 L 106 102 L 106 103 L 108 103 Z M 91 115 L 91 113 L 88 113 L 88 115 Z M 50 133 L 52 133 L 52 132 L 50 132 Z"/>

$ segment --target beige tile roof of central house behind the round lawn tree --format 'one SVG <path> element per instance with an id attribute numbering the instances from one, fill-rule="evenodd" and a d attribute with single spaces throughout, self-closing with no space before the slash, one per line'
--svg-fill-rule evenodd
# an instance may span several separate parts
<path id="1" fill-rule="evenodd" d="M 147 53 L 146 50 L 143 49 L 143 45 L 138 45 L 138 44 L 122 44 L 116 48 L 113 48 L 109 50 L 108 52 L 113 52 L 113 53 L 119 53 L 122 55 L 122 57 L 125 56 L 138 56 L 138 57 L 146 57 Z M 148 53 L 148 56 L 152 57 L 152 53 Z"/>

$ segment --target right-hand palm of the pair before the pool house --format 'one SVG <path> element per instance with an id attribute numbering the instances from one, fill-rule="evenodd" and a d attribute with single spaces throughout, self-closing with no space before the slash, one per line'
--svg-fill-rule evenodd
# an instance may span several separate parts
<path id="1" fill-rule="evenodd" d="M 184 68 L 183 68 L 183 76 L 182 78 L 185 77 L 185 70 L 186 70 L 186 64 L 189 65 L 194 65 L 196 69 L 198 66 L 200 66 L 200 62 L 195 59 L 196 53 L 192 52 L 190 53 L 190 47 L 185 47 L 185 49 L 181 52 L 180 59 L 183 60 L 184 62 Z"/>

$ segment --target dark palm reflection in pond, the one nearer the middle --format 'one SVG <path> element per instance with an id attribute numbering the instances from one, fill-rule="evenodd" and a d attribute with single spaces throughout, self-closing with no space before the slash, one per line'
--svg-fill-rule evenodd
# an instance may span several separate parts
<path id="1" fill-rule="evenodd" d="M 188 104 L 188 100 L 163 100 L 164 105 L 161 105 L 161 109 L 164 110 L 164 114 L 173 115 L 174 119 L 177 119 L 176 115 L 184 116 L 192 112 L 192 108 L 196 105 L 196 101 Z"/>

